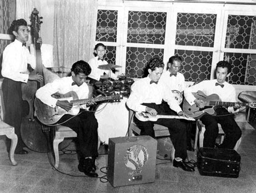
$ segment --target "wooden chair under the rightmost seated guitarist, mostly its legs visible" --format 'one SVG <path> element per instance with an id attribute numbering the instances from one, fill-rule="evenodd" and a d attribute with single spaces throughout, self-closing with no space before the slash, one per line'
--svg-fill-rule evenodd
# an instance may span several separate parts
<path id="1" fill-rule="evenodd" d="M 218 127 L 219 127 L 219 135 L 221 135 L 221 139 L 220 139 L 219 143 L 222 143 L 224 140 L 225 133 L 221 128 L 221 124 L 218 124 Z M 204 132 L 205 132 L 205 125 L 202 124 L 202 121 L 197 120 L 196 121 L 196 136 L 194 138 L 194 150 L 197 149 L 198 138 L 199 138 L 199 147 L 203 147 Z M 240 143 L 241 143 L 241 138 L 236 142 L 234 150 L 238 149 L 238 147 L 240 146 Z"/>

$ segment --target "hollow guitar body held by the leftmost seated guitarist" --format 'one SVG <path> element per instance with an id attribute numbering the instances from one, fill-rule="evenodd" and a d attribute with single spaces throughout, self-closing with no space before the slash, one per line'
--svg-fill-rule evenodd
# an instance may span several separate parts
<path id="1" fill-rule="evenodd" d="M 66 94 L 54 94 L 56 99 L 60 100 L 76 100 L 77 94 L 74 91 L 70 91 Z M 76 115 L 80 111 L 80 105 L 73 105 L 71 110 L 66 111 L 58 106 L 52 108 L 41 102 L 40 99 L 35 98 L 35 114 L 39 121 L 45 125 L 55 124 L 59 121 L 64 114 Z"/>

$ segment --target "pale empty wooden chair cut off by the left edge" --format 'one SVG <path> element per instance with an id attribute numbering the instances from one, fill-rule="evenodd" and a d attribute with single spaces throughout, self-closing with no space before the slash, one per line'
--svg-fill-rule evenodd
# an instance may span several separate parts
<path id="1" fill-rule="evenodd" d="M 14 160 L 14 151 L 18 142 L 18 137 L 14 133 L 14 127 L 5 124 L 5 122 L 0 121 L 0 135 L 6 135 L 7 138 L 11 139 L 12 143 L 10 146 L 9 158 L 13 166 L 16 166 L 16 161 Z"/>

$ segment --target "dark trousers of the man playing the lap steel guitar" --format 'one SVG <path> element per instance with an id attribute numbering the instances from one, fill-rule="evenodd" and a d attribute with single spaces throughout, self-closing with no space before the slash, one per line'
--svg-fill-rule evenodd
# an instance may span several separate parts
<path id="1" fill-rule="evenodd" d="M 166 104 L 143 104 L 147 107 L 154 108 L 158 114 L 168 114 L 168 115 L 177 115 L 173 111 L 166 111 Z M 140 135 L 149 135 L 152 138 L 155 138 L 154 133 L 154 124 L 163 125 L 168 127 L 170 138 L 175 149 L 175 157 L 182 158 L 185 160 L 187 158 L 187 132 L 186 132 L 186 123 L 181 119 L 158 119 L 157 121 L 139 121 L 134 117 L 134 122 L 140 128 Z"/>

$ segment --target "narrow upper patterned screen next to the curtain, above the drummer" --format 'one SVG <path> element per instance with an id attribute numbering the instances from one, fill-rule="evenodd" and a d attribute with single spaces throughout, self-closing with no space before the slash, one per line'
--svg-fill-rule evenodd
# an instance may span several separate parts
<path id="1" fill-rule="evenodd" d="M 117 10 L 98 10 L 96 41 L 116 42 Z"/>

